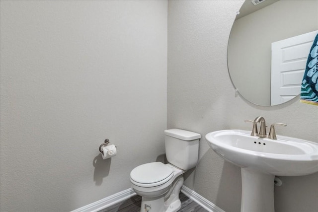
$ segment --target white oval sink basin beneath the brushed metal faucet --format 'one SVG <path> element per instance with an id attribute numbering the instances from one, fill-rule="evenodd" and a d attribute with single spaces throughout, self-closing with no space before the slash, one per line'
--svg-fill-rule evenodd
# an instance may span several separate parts
<path id="1" fill-rule="evenodd" d="M 279 176 L 318 172 L 318 143 L 277 136 L 277 140 L 250 136 L 249 131 L 223 130 L 206 135 L 210 147 L 242 168 Z"/>

